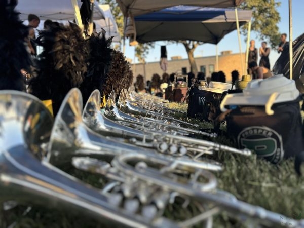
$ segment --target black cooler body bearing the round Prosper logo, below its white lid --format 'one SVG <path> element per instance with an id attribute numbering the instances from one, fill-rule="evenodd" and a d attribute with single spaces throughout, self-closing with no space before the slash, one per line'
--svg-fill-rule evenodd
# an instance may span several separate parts
<path id="1" fill-rule="evenodd" d="M 264 106 L 239 106 L 226 117 L 227 134 L 234 137 L 239 148 L 252 149 L 274 164 L 296 156 L 304 150 L 300 98 L 274 104 L 271 116 Z"/>

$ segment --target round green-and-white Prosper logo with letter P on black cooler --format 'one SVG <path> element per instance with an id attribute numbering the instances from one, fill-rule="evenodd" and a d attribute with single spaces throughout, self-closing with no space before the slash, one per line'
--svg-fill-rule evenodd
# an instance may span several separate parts
<path id="1" fill-rule="evenodd" d="M 238 135 L 240 147 L 254 150 L 258 157 L 264 157 L 272 163 L 283 159 L 282 137 L 276 131 L 265 126 L 252 126 L 243 129 Z"/>

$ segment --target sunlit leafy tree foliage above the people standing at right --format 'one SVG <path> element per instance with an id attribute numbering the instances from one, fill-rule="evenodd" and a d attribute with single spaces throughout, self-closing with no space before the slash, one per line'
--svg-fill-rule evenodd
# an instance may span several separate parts
<path id="1" fill-rule="evenodd" d="M 275 48 L 280 41 L 278 23 L 281 20 L 277 8 L 280 1 L 275 0 L 246 0 L 240 8 L 252 10 L 251 30 L 260 35 L 260 41 L 268 40 L 272 48 Z M 243 34 L 247 35 L 248 25 L 242 26 Z"/>

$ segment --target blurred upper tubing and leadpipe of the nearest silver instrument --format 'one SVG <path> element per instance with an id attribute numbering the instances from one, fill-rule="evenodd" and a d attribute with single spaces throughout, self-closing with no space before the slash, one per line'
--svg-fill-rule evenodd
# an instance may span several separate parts
<path id="1" fill-rule="evenodd" d="M 230 216 L 241 219 L 244 223 L 247 222 L 247 224 L 250 225 L 263 225 L 263 227 L 304 227 L 303 219 L 290 219 L 288 223 L 284 223 L 281 218 L 286 216 L 282 214 L 277 214 L 264 208 L 239 201 L 232 194 L 224 191 L 212 192 L 211 190 L 214 189 L 212 187 L 206 189 L 208 184 L 212 185 L 211 180 L 213 179 L 213 175 L 208 171 L 197 171 L 189 181 L 180 181 L 179 178 L 168 175 L 168 173 L 174 173 L 178 170 L 181 166 L 178 162 L 164 166 L 164 163 L 158 158 L 151 160 L 145 155 L 138 154 L 118 156 L 113 159 L 112 166 L 123 172 L 126 176 L 132 176 L 133 179 L 164 186 L 167 191 L 177 192 L 195 202 L 211 204 L 212 207 L 205 212 L 205 217 L 214 214 L 210 213 L 210 211 L 216 213 L 225 211 Z M 197 181 L 200 174 L 203 174 L 203 176 L 209 180 L 207 185 Z M 203 214 L 201 216 L 203 216 Z"/>

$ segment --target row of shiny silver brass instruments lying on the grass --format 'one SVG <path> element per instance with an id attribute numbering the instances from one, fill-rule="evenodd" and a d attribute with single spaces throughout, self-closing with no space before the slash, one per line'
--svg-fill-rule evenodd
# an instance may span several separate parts
<path id="1" fill-rule="evenodd" d="M 282 223 L 283 215 L 217 189 L 214 173 L 222 166 L 206 155 L 250 156 L 250 150 L 215 143 L 215 134 L 189 129 L 195 125 L 173 118 L 180 111 L 163 99 L 130 90 L 116 96 L 112 91 L 103 111 L 98 90 L 84 105 L 74 88 L 54 119 L 36 97 L 0 91 L 1 202 L 50 202 L 49 207 L 85 211 L 119 227 L 191 227 L 199 222 L 213 227 L 213 216 L 222 212 L 248 227 L 304 227 L 303 220 Z M 94 188 L 60 169 L 68 165 L 108 181 L 103 189 Z M 180 210 L 194 203 L 200 213 L 181 221 L 165 216 L 177 199 L 184 202 Z"/>

